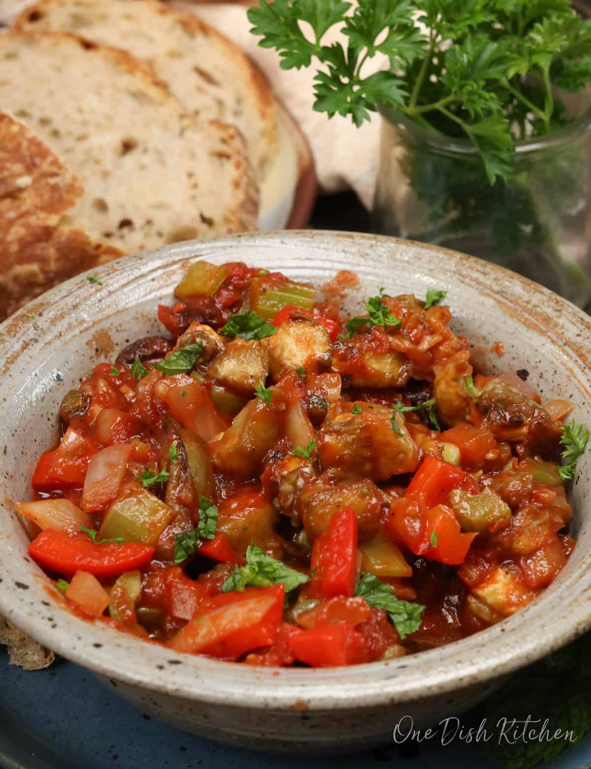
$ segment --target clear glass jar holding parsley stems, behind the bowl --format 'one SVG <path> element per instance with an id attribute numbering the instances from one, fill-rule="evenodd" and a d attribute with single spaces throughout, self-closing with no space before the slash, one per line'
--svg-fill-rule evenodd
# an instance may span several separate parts
<path id="1" fill-rule="evenodd" d="M 516 173 L 493 187 L 469 140 L 442 136 L 382 110 L 372 228 L 493 261 L 580 307 L 589 305 L 588 100 L 585 109 L 548 136 L 519 141 Z"/>

